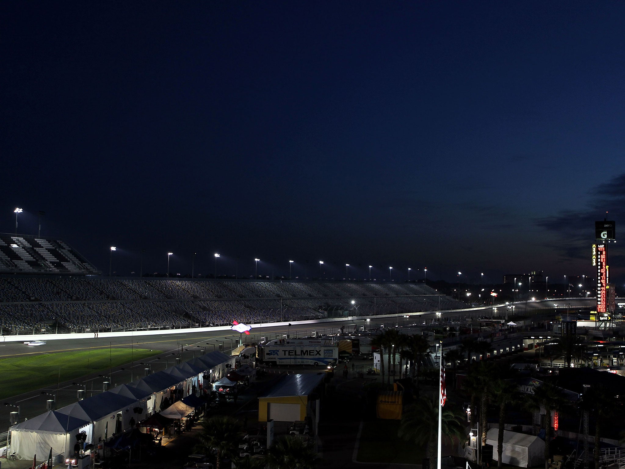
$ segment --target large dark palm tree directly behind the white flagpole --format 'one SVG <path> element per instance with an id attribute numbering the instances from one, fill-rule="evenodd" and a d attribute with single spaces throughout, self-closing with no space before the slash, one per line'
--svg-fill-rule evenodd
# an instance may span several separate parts
<path id="1" fill-rule="evenodd" d="M 462 415 L 454 408 L 442 408 L 442 434 L 447 438 L 465 438 Z M 397 436 L 406 441 L 414 441 L 417 445 L 427 448 L 429 458 L 434 458 L 436 450 L 436 435 L 438 434 L 438 401 L 421 397 L 401 417 L 401 425 Z"/>

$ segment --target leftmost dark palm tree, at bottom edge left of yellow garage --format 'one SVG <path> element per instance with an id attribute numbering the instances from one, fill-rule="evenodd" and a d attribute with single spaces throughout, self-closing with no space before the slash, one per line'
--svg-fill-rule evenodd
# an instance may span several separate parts
<path id="1" fill-rule="evenodd" d="M 241 440 L 241 423 L 230 416 L 217 415 L 202 421 L 199 443 L 194 451 L 203 455 L 215 453 L 215 467 L 219 469 L 221 460 L 236 453 Z"/>

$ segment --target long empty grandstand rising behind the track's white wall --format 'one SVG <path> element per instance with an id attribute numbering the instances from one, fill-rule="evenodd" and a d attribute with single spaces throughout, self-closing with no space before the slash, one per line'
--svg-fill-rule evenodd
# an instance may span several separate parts
<path id="1" fill-rule="evenodd" d="M 234 319 L 257 324 L 466 307 L 419 283 L 98 274 L 64 241 L 0 234 L 0 335 L 176 329 L 229 325 Z"/>

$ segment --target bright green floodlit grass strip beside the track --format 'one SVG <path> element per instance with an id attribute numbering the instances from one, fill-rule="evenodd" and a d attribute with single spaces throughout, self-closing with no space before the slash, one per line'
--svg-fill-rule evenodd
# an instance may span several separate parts
<path id="1" fill-rule="evenodd" d="M 129 348 L 96 348 L 0 358 L 0 400 L 41 388 L 53 388 L 59 381 L 75 380 L 159 353 L 161 351 L 145 348 L 133 351 Z"/>

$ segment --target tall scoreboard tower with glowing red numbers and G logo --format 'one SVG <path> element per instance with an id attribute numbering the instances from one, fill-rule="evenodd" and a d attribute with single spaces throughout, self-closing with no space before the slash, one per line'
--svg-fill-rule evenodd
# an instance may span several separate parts
<path id="1" fill-rule="evenodd" d="M 614 286 L 609 283 L 607 265 L 607 245 L 616 243 L 616 224 L 614 221 L 596 221 L 594 223 L 595 243 L 592 245 L 592 266 L 597 269 L 597 310 L 595 322 L 597 328 L 614 327 L 616 295 Z"/>

